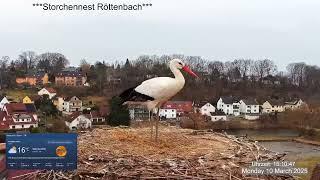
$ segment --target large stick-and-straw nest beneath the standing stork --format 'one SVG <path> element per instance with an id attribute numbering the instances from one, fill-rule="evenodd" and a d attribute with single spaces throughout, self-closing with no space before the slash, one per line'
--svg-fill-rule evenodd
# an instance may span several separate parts
<path id="1" fill-rule="evenodd" d="M 41 171 L 37 179 L 252 179 L 241 168 L 276 154 L 227 134 L 160 128 L 159 142 L 149 128 L 100 128 L 79 135 L 78 169 Z M 29 175 L 31 176 L 31 175 Z M 260 179 L 291 179 L 260 176 Z"/>

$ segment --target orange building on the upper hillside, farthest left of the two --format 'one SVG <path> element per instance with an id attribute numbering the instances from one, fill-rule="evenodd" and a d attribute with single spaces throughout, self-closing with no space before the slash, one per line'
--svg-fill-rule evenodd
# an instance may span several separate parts
<path id="1" fill-rule="evenodd" d="M 17 77 L 17 84 L 28 84 L 30 86 L 45 85 L 49 83 L 49 76 L 45 72 L 29 73 L 25 77 Z"/>

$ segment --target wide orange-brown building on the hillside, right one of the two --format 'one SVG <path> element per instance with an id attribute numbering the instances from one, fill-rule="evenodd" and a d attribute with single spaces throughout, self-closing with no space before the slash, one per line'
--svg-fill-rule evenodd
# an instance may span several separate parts
<path id="1" fill-rule="evenodd" d="M 57 86 L 84 86 L 87 76 L 77 71 L 63 71 L 55 76 Z"/>

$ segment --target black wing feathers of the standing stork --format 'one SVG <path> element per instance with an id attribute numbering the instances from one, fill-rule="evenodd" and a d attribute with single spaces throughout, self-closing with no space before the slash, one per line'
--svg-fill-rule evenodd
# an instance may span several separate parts
<path id="1" fill-rule="evenodd" d="M 150 97 L 148 95 L 145 95 L 145 94 L 141 94 L 137 91 L 135 91 L 135 88 L 136 87 L 133 87 L 133 88 L 129 88 L 125 91 L 123 91 L 119 97 L 121 98 L 122 100 L 122 103 L 126 102 L 126 101 L 138 101 L 138 102 L 144 102 L 144 101 L 153 101 L 154 98 L 153 97 Z"/>

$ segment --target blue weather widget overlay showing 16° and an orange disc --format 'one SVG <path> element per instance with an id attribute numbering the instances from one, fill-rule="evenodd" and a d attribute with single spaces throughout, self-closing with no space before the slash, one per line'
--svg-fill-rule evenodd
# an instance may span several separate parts
<path id="1" fill-rule="evenodd" d="M 7 169 L 77 168 L 77 134 L 7 134 Z"/>

